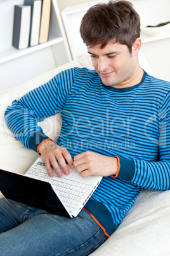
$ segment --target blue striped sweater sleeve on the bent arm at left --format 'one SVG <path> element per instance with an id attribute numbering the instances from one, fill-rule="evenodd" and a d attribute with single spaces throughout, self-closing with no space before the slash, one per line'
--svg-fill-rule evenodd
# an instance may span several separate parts
<path id="1" fill-rule="evenodd" d="M 6 124 L 15 134 L 15 139 L 26 148 L 37 152 L 37 146 L 48 138 L 37 122 L 56 115 L 63 108 L 73 79 L 72 69 L 65 73 L 69 83 L 63 80 L 62 73 L 58 74 L 48 83 L 13 101 L 12 106 L 6 109 Z"/>

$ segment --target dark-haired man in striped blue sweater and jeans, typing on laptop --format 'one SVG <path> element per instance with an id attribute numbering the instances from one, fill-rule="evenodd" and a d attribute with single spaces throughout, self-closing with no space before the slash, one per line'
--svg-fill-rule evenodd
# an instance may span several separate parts
<path id="1" fill-rule="evenodd" d="M 170 83 L 140 67 L 140 18 L 128 1 L 97 4 L 81 36 L 95 70 L 73 68 L 13 101 L 5 113 L 15 138 L 41 155 L 49 175 L 66 162 L 103 176 L 75 218 L 1 199 L 0 247 L 10 255 L 89 255 L 121 224 L 143 188 L 169 189 Z M 53 142 L 37 121 L 62 114 Z M 57 162 L 58 161 L 58 162 Z"/>

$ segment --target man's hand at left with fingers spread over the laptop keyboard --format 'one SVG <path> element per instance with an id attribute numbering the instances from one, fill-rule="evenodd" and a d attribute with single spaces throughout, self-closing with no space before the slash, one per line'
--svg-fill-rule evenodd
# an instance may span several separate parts
<path id="1" fill-rule="evenodd" d="M 58 162 L 60 163 L 60 166 L 62 166 L 65 175 L 69 174 L 69 168 L 67 167 L 66 162 L 69 164 L 70 168 L 74 168 L 72 157 L 67 149 L 56 145 L 56 143 L 51 140 L 47 140 L 39 146 L 39 153 L 41 153 L 41 159 L 45 163 L 49 176 L 53 176 L 51 165 L 55 169 L 56 174 L 62 176 L 62 171 L 58 166 Z"/>

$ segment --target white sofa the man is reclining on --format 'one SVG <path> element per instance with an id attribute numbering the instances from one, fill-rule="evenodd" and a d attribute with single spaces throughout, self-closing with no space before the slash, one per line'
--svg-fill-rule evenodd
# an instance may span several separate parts
<path id="1" fill-rule="evenodd" d="M 142 68 L 151 73 L 143 55 Z M 38 87 L 56 73 L 74 66 L 93 68 L 88 55 L 82 56 L 48 73 L 34 78 L 18 87 L 0 92 L 0 168 L 25 173 L 38 155 L 15 141 L 4 122 L 4 111 L 13 99 L 20 98 L 29 90 Z M 10 75 L 10 74 L 8 74 Z M 22 75 L 22 74 L 21 74 Z M 56 139 L 61 127 L 60 115 L 41 122 L 44 132 Z M 170 255 L 170 191 L 143 190 L 136 199 L 117 231 L 94 253 L 93 256 L 169 256 Z"/>

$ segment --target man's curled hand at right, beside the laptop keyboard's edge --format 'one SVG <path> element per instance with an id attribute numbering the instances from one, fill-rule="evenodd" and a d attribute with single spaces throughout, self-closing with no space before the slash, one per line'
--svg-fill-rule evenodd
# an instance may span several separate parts
<path id="1" fill-rule="evenodd" d="M 117 158 L 84 152 L 74 157 L 74 167 L 83 177 L 110 176 L 117 172 Z"/>

